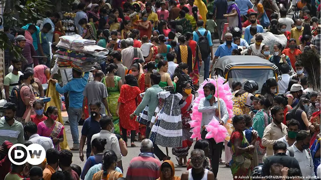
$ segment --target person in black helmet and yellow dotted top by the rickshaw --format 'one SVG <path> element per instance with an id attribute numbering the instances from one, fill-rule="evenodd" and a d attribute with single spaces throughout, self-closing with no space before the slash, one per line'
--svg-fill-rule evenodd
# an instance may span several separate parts
<path id="1" fill-rule="evenodd" d="M 251 97 L 257 91 L 259 86 L 253 80 L 245 82 L 244 89 L 237 91 L 232 98 L 233 104 L 233 114 L 234 115 L 243 115 L 250 112 L 250 108 L 246 105 L 251 105 Z"/>

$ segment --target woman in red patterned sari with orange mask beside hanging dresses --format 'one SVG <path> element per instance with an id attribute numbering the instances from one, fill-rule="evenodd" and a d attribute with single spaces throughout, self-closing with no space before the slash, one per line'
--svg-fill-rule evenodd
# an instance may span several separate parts
<path id="1" fill-rule="evenodd" d="M 190 138 L 193 133 L 190 132 L 191 127 L 188 122 L 191 120 L 190 114 L 192 113 L 192 102 L 194 101 L 195 96 L 192 94 L 193 88 L 190 82 L 183 81 L 180 85 L 180 88 L 180 92 L 183 95 L 179 102 L 179 107 L 182 113 L 183 146 L 179 148 L 172 148 L 172 153 L 176 156 L 176 159 L 178 159 L 178 164 L 186 167 L 188 150 L 193 143 L 193 139 Z M 183 159 L 184 164 L 182 162 Z"/>

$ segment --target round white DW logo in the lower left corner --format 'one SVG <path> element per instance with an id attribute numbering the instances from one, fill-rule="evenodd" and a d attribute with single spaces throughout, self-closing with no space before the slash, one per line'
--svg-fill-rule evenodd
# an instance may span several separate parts
<path id="1" fill-rule="evenodd" d="M 15 147 L 17 148 L 14 150 L 14 157 L 11 157 L 11 152 Z M 46 151 L 40 144 L 30 144 L 28 147 L 23 144 L 14 144 L 9 149 L 8 155 L 9 160 L 15 165 L 23 165 L 26 162 L 28 162 L 31 165 L 39 165 L 45 160 Z"/>

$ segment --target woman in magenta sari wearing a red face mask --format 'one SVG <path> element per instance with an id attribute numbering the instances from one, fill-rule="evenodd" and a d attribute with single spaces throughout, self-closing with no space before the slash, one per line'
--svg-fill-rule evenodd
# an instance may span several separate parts
<path id="1" fill-rule="evenodd" d="M 38 133 L 40 136 L 50 137 L 55 149 L 60 151 L 60 144 L 64 141 L 64 125 L 56 121 L 58 118 L 58 109 L 55 106 L 49 106 L 45 113 L 47 119 L 38 124 Z"/>

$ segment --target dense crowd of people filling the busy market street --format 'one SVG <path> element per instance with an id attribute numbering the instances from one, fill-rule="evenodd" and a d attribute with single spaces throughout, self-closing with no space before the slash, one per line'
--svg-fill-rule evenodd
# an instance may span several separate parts
<path id="1" fill-rule="evenodd" d="M 321 94 L 303 61 L 321 53 L 319 4 L 293 0 L 299 13 L 291 19 L 290 7 L 279 8 L 276 1 L 84 0 L 71 10 L 75 32 L 109 51 L 90 72 L 58 66 L 57 44 L 66 35 L 61 13 L 48 13 L 41 23 L 4 26 L 8 43 L 22 49 L 22 58 L 5 50 L 0 179 L 214 180 L 220 163 L 230 167 L 234 179 L 319 179 Z M 281 40 L 271 44 L 271 34 Z M 214 39 L 221 44 L 215 52 Z M 260 89 L 253 80 L 231 83 L 230 140 L 206 139 L 205 126 L 212 119 L 228 124 L 229 112 L 214 96 L 214 84 L 200 86 L 201 66 L 205 80 L 217 59 L 241 54 L 272 62 L 281 78 L 267 79 Z M 202 139 L 192 148 L 189 122 L 200 87 Z M 51 97 L 56 106 L 37 98 L 47 91 L 59 94 Z M 59 119 L 64 109 L 71 148 L 63 145 L 65 125 Z M 129 138 L 131 147 L 141 141 L 141 153 L 123 167 Z M 8 151 L 16 143 L 40 144 L 46 159 L 36 166 L 13 164 Z M 171 147 L 177 166 L 187 168 L 181 177 L 159 146 Z M 72 151 L 79 151 L 84 167 L 72 164 Z"/>

